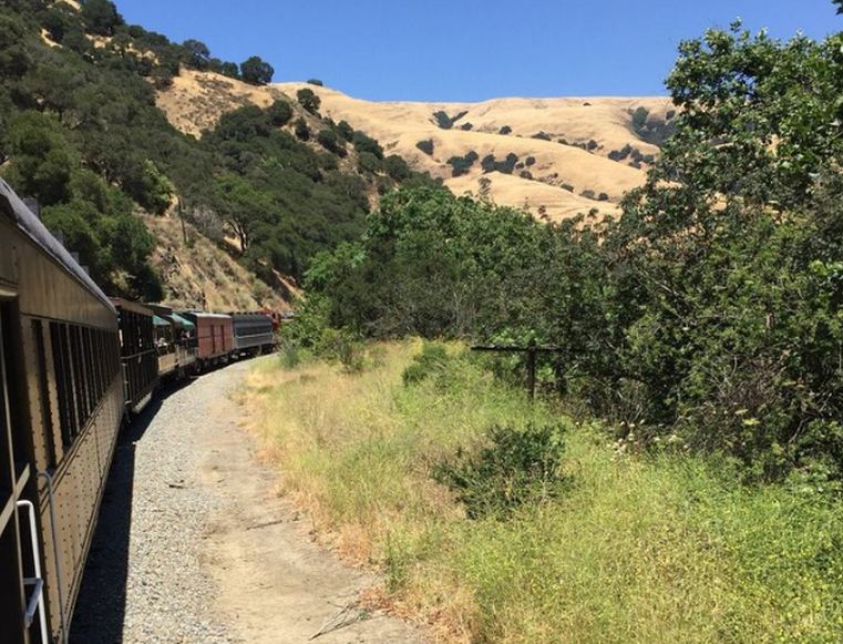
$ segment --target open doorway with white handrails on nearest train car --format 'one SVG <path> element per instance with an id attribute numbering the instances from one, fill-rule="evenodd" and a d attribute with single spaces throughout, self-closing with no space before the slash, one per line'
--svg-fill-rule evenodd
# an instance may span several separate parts
<path id="1" fill-rule="evenodd" d="M 34 644 L 47 641 L 47 625 L 13 305 L 0 294 L 0 624 L 3 642 Z"/>

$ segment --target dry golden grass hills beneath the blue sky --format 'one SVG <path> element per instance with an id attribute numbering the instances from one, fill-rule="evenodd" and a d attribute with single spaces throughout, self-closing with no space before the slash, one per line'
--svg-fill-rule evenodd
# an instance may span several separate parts
<path id="1" fill-rule="evenodd" d="M 551 219 L 592 208 L 616 213 L 624 193 L 644 183 L 646 160 L 658 153 L 656 145 L 636 134 L 633 113 L 646 109 L 647 124 L 652 126 L 669 122 L 672 115 L 667 98 L 370 102 L 304 83 L 256 88 L 188 70 L 158 94 L 158 105 L 176 127 L 198 135 L 228 110 L 249 103 L 266 106 L 280 94 L 295 99 L 305 86 L 319 94 L 323 116 L 348 121 L 376 137 L 388 153 L 400 154 L 414 168 L 441 177 L 454 193 L 477 195 L 480 180 L 485 176 L 491 181 L 487 190 L 495 202 L 527 207 Z M 438 112 L 453 120 L 451 129 L 438 124 Z M 503 134 L 502 130 L 508 132 Z M 420 151 L 420 141 L 432 141 L 433 153 Z M 609 159 L 625 147 L 635 156 L 627 152 L 621 161 Z M 448 161 L 472 151 L 477 161 L 467 174 L 452 176 Z M 484 174 L 481 160 L 490 154 L 497 161 L 515 154 L 518 161 L 513 173 Z"/>

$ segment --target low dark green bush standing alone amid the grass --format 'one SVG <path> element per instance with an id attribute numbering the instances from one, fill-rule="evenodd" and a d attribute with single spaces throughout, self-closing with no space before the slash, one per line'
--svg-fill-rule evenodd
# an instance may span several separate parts
<path id="1" fill-rule="evenodd" d="M 438 466 L 434 478 L 456 493 L 469 519 L 506 519 L 520 505 L 564 491 L 563 433 L 561 426 L 493 427 L 487 447 L 476 456 L 458 451 Z"/>

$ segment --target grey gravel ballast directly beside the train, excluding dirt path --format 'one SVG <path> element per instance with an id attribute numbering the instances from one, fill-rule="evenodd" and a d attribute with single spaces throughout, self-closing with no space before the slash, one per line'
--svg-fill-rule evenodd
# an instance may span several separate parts
<path id="1" fill-rule="evenodd" d="M 247 364 L 203 376 L 154 400 L 114 454 L 71 642 L 235 642 L 202 566 L 208 521 L 225 508 L 201 482 L 197 446 L 230 422 L 213 412 Z"/>

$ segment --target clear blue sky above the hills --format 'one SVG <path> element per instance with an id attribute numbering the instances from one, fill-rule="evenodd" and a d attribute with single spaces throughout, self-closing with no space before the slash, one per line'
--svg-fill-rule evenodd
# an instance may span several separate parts
<path id="1" fill-rule="evenodd" d="M 843 30 L 831 0 L 117 0 L 130 23 L 276 81 L 369 100 L 662 94 L 679 41 L 741 17 L 774 37 Z"/>

